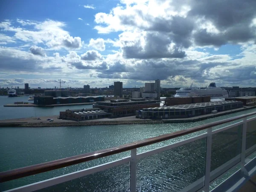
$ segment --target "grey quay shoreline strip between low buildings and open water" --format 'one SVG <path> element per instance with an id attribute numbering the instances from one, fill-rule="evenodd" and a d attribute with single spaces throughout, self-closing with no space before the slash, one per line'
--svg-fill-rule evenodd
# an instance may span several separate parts
<path id="1" fill-rule="evenodd" d="M 216 116 L 223 116 L 230 113 L 237 113 L 256 108 L 244 107 L 236 110 L 223 111 L 215 114 L 207 114 L 203 116 L 195 116 L 184 119 L 138 119 L 135 116 L 119 117 L 119 118 L 102 118 L 92 119 L 87 121 L 73 121 L 67 119 L 58 119 L 58 115 L 44 116 L 37 120 L 38 117 L 20 118 L 20 119 L 5 119 L 0 120 L 1 127 L 62 127 L 62 126 L 90 126 L 90 125 L 131 125 L 131 124 L 160 124 L 160 123 L 176 123 L 176 122 L 196 122 L 204 119 L 210 119 Z M 53 122 L 47 119 L 54 119 Z"/>

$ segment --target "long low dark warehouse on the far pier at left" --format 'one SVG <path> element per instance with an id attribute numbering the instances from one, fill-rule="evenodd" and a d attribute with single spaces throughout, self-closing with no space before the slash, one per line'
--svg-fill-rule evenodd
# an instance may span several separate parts
<path id="1" fill-rule="evenodd" d="M 104 97 L 87 96 L 87 97 L 58 97 L 53 96 L 35 96 L 35 105 L 59 105 L 59 104 L 73 104 L 73 103 L 89 103 L 96 101 L 104 101 Z"/>

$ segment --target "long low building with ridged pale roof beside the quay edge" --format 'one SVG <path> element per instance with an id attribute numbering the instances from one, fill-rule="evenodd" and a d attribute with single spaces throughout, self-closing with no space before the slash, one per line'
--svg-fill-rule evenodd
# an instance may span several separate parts
<path id="1" fill-rule="evenodd" d="M 136 111 L 136 117 L 141 119 L 180 119 L 212 113 L 212 111 L 227 111 L 241 108 L 239 101 L 217 101 L 175 105 L 171 107 L 144 108 Z"/>

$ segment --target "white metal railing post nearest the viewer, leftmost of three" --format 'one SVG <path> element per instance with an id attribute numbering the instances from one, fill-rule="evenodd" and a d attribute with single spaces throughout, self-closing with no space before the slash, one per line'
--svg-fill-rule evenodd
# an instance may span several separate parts
<path id="1" fill-rule="evenodd" d="M 137 148 L 131 150 L 130 192 L 136 192 Z"/>

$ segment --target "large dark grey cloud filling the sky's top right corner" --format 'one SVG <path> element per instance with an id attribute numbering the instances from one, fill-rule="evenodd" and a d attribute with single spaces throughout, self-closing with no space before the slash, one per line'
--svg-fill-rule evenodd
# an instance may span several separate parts
<path id="1" fill-rule="evenodd" d="M 244 43 L 256 38 L 256 28 L 250 26 L 256 17 L 255 0 L 192 1 L 190 17 L 202 17 L 211 21 L 218 34 L 197 31 L 195 43 L 200 46 L 221 46 L 227 43 Z"/>

